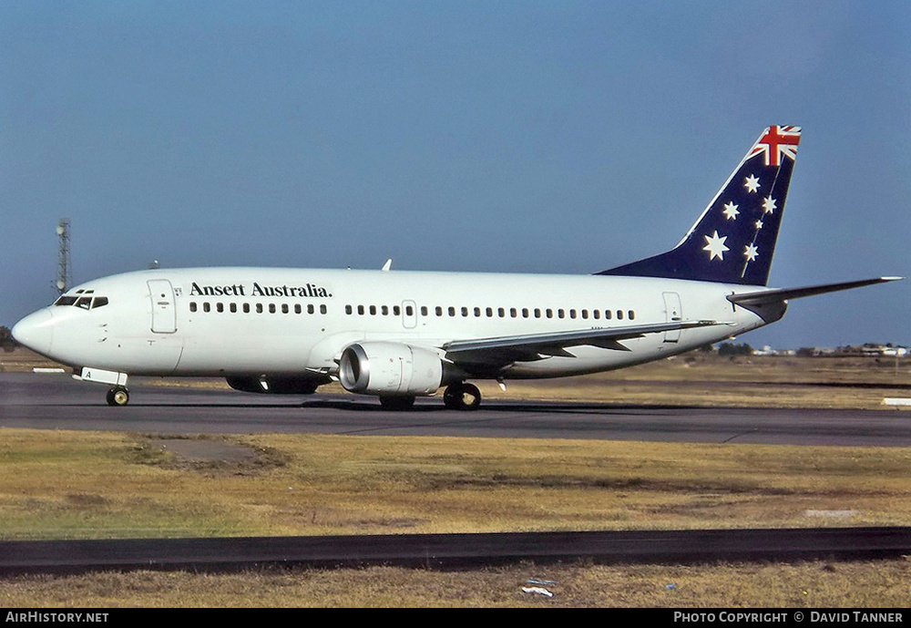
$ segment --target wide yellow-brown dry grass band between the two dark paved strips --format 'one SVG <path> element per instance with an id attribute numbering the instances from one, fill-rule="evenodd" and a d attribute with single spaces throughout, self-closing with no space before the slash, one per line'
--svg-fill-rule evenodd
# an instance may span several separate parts
<path id="1" fill-rule="evenodd" d="M 907 448 L 251 435 L 227 440 L 249 457 L 205 459 L 109 432 L 0 438 L 5 539 L 911 521 Z"/>

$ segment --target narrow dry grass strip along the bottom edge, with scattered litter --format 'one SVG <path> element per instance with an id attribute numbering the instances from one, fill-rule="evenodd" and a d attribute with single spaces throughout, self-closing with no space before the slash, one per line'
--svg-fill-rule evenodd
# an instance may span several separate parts
<path id="1" fill-rule="evenodd" d="M 392 567 L 193 574 L 133 571 L 9 578 L 6 608 L 907 606 L 908 561 L 796 564 L 549 565 L 473 571 Z M 546 580 L 544 585 L 528 580 Z M 522 592 L 543 586 L 553 597 Z"/>

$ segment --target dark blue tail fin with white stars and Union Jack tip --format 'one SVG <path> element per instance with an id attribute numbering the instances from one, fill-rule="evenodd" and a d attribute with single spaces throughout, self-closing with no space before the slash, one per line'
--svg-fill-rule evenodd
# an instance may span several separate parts
<path id="1" fill-rule="evenodd" d="M 798 127 L 765 129 L 677 246 L 597 274 L 765 285 L 799 142 Z"/>

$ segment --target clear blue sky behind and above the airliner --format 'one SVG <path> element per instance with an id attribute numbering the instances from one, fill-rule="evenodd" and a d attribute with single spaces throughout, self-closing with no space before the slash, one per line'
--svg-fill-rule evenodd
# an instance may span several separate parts
<path id="1" fill-rule="evenodd" d="M 77 283 L 263 265 L 591 273 L 804 129 L 770 283 L 911 275 L 905 2 L 0 3 L 0 324 Z M 738 342 L 911 344 L 911 281 Z"/>

